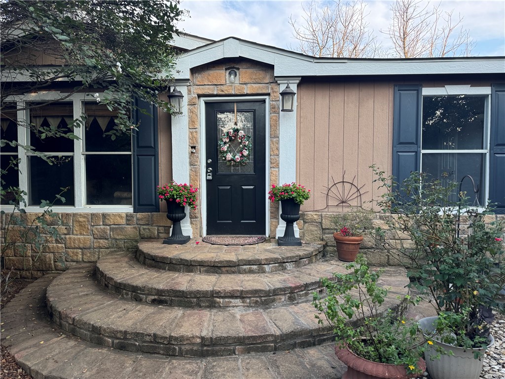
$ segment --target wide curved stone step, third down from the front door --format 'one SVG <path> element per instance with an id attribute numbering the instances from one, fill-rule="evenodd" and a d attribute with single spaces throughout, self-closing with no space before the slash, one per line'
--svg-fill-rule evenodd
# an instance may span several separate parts
<path id="1" fill-rule="evenodd" d="M 47 289 L 47 306 L 56 324 L 94 344 L 205 357 L 283 351 L 333 339 L 308 302 L 272 309 L 157 306 L 103 291 L 93 271 L 93 265 L 80 264 L 57 277 Z M 405 275 L 383 276 L 383 284 L 391 287 L 384 309 L 398 306 L 407 283 Z"/>

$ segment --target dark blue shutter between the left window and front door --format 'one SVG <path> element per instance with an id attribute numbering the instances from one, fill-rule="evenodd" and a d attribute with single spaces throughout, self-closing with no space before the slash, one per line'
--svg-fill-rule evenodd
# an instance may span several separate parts
<path id="1" fill-rule="evenodd" d="M 133 133 L 133 211 L 158 212 L 158 108 L 138 98 L 134 104 L 133 121 L 140 124 Z"/>

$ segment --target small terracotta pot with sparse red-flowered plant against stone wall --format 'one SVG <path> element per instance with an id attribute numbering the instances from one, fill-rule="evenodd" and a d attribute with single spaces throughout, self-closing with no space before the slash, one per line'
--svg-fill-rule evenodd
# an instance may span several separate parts
<path id="1" fill-rule="evenodd" d="M 335 232 L 333 239 L 337 246 L 338 259 L 353 262 L 363 242 L 363 234 L 373 229 L 375 214 L 362 207 L 350 207 L 347 212 L 332 217 Z"/>

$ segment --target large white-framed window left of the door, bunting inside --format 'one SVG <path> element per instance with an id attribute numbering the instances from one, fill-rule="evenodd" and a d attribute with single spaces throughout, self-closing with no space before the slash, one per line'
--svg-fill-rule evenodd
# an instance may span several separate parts
<path id="1" fill-rule="evenodd" d="M 36 154 L 21 147 L 17 149 L 20 158 L 17 178 L 20 188 L 28 194 L 25 210 L 40 211 L 40 201 L 53 201 L 63 187 L 67 188 L 62 194 L 66 202 L 57 201 L 54 211 L 132 212 L 131 136 L 123 134 L 113 140 L 106 135 L 114 127 L 116 113 L 97 104 L 93 97 L 84 93 L 73 94 L 65 100 L 41 107 L 24 109 L 30 108 L 27 106 L 31 104 L 42 104 L 60 97 L 58 93 L 46 92 L 14 99 L 19 110 L 19 125 L 29 122 L 34 126 L 34 130 L 17 127 L 18 142 L 32 146 L 34 151 L 42 152 L 55 161 L 49 165 Z M 86 116 L 84 124 L 71 127 L 72 121 L 83 114 Z M 58 127 L 73 132 L 78 138 L 48 137 L 37 132 L 41 126 Z M 7 157 L 7 152 L 5 155 Z M 2 157 L 2 167 L 6 161 L 7 158 Z"/>

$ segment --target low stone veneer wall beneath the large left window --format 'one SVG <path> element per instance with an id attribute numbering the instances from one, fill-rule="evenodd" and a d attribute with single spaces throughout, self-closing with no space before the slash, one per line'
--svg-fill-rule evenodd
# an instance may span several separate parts
<path id="1" fill-rule="evenodd" d="M 25 215 L 29 225 L 36 213 Z M 169 236 L 171 221 L 166 213 L 59 213 L 63 224 L 58 227 L 61 237 L 50 241 L 40 254 L 8 250 L 3 254 L 7 268 L 23 278 L 38 278 L 51 272 L 64 271 L 73 262 L 96 262 L 108 252 L 121 249 L 134 252 L 140 239 L 164 239 Z M 2 215 L 1 227 L 4 244 L 6 217 Z M 9 218 L 7 218 L 7 221 Z M 54 223 L 48 219 L 48 224 Z M 11 238 L 18 233 L 10 228 Z"/>

